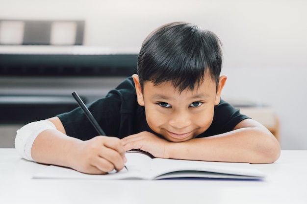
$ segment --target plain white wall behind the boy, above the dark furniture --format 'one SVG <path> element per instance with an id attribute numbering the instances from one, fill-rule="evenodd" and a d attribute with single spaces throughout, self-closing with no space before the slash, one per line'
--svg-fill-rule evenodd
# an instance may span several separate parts
<path id="1" fill-rule="evenodd" d="M 307 1 L 0 0 L 0 19 L 85 20 L 85 45 L 139 49 L 161 24 L 188 21 L 224 44 L 225 98 L 270 105 L 282 149 L 307 149 Z"/>

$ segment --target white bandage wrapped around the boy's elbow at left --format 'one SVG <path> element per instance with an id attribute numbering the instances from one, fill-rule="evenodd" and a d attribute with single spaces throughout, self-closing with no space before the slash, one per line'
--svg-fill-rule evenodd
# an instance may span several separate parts
<path id="1" fill-rule="evenodd" d="M 56 129 L 49 120 L 31 122 L 17 131 L 15 138 L 15 149 L 23 158 L 34 161 L 31 156 L 31 149 L 36 137 L 43 131 Z"/>

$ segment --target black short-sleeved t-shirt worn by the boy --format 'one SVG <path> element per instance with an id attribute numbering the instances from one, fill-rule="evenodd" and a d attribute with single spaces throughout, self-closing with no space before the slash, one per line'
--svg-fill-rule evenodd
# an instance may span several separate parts
<path id="1" fill-rule="evenodd" d="M 88 104 L 87 107 L 107 136 L 123 138 L 142 131 L 154 133 L 146 122 L 144 107 L 137 103 L 132 77 L 124 80 L 104 98 Z M 57 116 L 63 123 L 68 136 L 88 140 L 99 135 L 81 108 Z M 248 117 L 240 114 L 238 109 L 221 100 L 220 104 L 214 107 L 211 126 L 197 137 L 229 132 L 246 118 Z"/>

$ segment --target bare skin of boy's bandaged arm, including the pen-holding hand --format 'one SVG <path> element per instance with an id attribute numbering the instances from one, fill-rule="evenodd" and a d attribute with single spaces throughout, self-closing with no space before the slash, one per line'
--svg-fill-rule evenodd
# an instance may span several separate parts
<path id="1" fill-rule="evenodd" d="M 105 174 L 124 168 L 125 151 L 117 137 L 96 136 L 82 141 L 67 136 L 58 117 L 48 119 L 56 129 L 41 132 L 31 148 L 39 163 L 67 166 L 89 174 Z"/>

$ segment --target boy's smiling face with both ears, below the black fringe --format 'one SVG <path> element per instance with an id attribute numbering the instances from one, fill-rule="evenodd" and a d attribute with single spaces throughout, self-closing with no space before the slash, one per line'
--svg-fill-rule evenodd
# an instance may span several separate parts
<path id="1" fill-rule="evenodd" d="M 180 142 L 195 138 L 209 128 L 227 77 L 220 77 L 218 90 L 211 78 L 206 77 L 195 90 L 182 92 L 170 81 L 158 86 L 145 81 L 142 92 L 138 76 L 133 75 L 133 79 L 138 103 L 145 106 L 149 127 L 169 141 Z"/>

